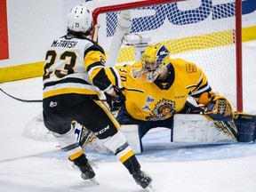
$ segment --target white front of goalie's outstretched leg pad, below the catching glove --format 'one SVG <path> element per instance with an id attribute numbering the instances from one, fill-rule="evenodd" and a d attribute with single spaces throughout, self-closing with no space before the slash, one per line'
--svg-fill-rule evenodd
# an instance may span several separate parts
<path id="1" fill-rule="evenodd" d="M 172 141 L 176 143 L 213 144 L 236 142 L 233 121 L 210 121 L 199 114 L 175 114 Z"/>

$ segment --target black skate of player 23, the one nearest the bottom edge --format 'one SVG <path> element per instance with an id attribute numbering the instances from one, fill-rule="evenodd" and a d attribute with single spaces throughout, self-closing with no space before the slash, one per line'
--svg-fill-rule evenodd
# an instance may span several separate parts
<path id="1" fill-rule="evenodd" d="M 133 172 L 132 177 L 136 181 L 136 183 L 140 185 L 141 188 L 146 188 L 149 191 L 153 191 L 151 185 L 152 179 L 145 172 L 142 172 L 140 170 L 138 172 Z"/>

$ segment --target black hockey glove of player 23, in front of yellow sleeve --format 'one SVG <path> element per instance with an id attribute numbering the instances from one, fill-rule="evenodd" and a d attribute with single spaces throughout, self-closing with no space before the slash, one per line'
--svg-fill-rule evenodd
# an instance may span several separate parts
<path id="1" fill-rule="evenodd" d="M 113 89 L 114 89 L 114 92 L 116 92 L 116 97 L 111 96 L 110 94 L 105 92 L 108 107 L 110 108 L 111 112 L 119 110 L 119 108 L 124 105 L 124 102 L 126 100 L 126 98 L 120 88 L 113 85 Z"/>

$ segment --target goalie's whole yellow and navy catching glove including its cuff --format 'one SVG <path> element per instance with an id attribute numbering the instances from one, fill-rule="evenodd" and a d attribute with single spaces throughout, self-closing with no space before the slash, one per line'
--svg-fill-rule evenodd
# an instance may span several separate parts
<path id="1" fill-rule="evenodd" d="M 204 104 L 204 115 L 215 121 L 231 121 L 234 113 L 231 104 L 224 97 L 215 92 L 204 92 L 198 99 Z"/>

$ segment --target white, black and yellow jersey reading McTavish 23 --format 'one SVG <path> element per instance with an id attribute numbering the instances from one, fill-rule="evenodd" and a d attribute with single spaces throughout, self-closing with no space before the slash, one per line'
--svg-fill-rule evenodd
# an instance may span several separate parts
<path id="1" fill-rule="evenodd" d="M 44 62 L 44 107 L 52 111 L 83 100 L 99 100 L 112 84 L 105 73 L 105 52 L 90 39 L 62 36 L 52 41 Z"/>

